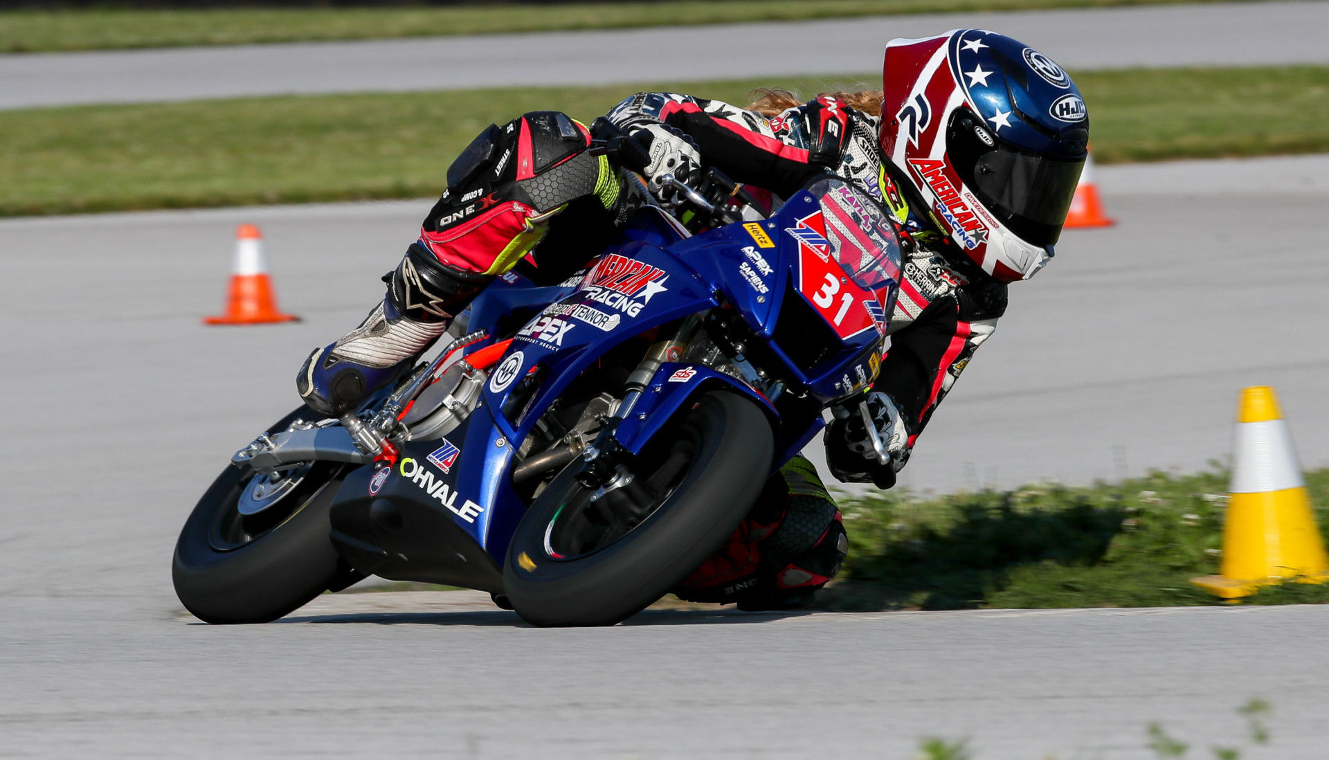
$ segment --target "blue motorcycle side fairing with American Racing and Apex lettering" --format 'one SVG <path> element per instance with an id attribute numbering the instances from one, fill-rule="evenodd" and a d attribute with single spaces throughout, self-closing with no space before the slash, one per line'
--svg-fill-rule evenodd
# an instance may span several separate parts
<path id="1" fill-rule="evenodd" d="M 843 345 L 811 369 L 788 356 L 788 345 L 771 340 L 785 294 L 796 290 L 788 286 L 796 282 L 800 266 L 797 237 L 784 233 L 795 227 L 800 215 L 816 209 L 817 198 L 801 191 L 771 219 L 754 222 L 769 238 L 767 244 L 775 243 L 767 248 L 743 225 L 682 238 L 661 218 L 659 210 L 645 209 L 629 225 L 627 240 L 611 247 L 577 290 L 545 306 L 517 332 L 484 389 L 490 408 L 497 409 L 498 428 L 520 445 L 548 405 L 605 351 L 653 327 L 718 306 L 715 294 L 738 308 L 752 330 L 785 359 L 795 379 L 820 400 L 848 396 L 870 384 L 878 367 L 878 331 L 843 339 Z M 486 291 L 477 299 L 486 303 L 477 304 L 472 324 L 496 320 L 518 303 L 533 311 L 532 300 L 560 292 L 565 291 L 498 288 L 496 295 L 502 298 L 490 304 Z M 821 319 L 816 312 L 808 318 Z M 512 399 L 518 389 L 521 395 Z"/>

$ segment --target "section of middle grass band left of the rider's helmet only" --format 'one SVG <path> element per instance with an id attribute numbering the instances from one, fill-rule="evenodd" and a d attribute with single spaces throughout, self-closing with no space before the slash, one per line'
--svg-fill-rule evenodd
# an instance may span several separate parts
<path id="1" fill-rule="evenodd" d="M 747 102 L 762 84 L 663 86 Z M 526 88 L 0 112 L 0 215 L 437 195 L 452 158 L 485 125 L 537 109 L 589 124 L 634 92 Z"/>

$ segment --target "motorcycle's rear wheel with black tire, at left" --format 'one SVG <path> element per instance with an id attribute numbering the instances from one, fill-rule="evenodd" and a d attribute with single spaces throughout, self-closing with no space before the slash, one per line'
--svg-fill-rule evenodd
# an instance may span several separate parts
<path id="1" fill-rule="evenodd" d="M 322 415 L 300 407 L 267 432 L 284 430 L 296 417 Z M 171 579 L 185 609 L 207 623 L 266 623 L 358 579 L 328 538 L 328 509 L 343 473 L 340 465 L 315 462 L 292 492 L 245 518 L 237 504 L 254 470 L 227 466 L 175 542 Z"/>

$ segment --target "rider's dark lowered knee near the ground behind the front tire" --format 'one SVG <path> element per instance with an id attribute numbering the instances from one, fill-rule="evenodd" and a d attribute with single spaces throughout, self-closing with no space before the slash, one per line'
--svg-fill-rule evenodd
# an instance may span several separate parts
<path id="1" fill-rule="evenodd" d="M 848 550 L 840 510 L 812 462 L 799 456 L 767 481 L 747 520 L 674 593 L 742 610 L 799 607 L 840 573 Z"/>

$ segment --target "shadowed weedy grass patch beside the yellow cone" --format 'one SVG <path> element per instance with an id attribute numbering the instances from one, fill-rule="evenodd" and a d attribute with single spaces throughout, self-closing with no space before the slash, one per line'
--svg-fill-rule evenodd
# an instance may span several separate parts
<path id="1" fill-rule="evenodd" d="M 819 603 L 840 610 L 1217 605 L 1189 583 L 1217 573 L 1221 470 L 1112 485 L 1031 485 L 920 500 L 886 492 L 841 504 L 849 558 Z M 1329 469 L 1306 473 L 1329 525 Z M 1268 587 L 1249 603 L 1324 603 L 1329 585 Z"/>

